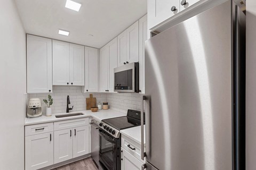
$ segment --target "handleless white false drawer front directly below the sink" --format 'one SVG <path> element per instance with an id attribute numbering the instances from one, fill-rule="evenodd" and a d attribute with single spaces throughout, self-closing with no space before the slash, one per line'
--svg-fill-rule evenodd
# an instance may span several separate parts
<path id="1" fill-rule="evenodd" d="M 54 131 L 89 125 L 89 117 L 54 122 Z"/>

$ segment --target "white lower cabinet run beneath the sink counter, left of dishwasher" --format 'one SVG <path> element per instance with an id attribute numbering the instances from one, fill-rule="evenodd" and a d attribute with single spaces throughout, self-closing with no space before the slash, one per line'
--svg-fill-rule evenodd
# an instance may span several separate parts
<path id="1" fill-rule="evenodd" d="M 89 154 L 89 117 L 25 126 L 25 170 Z"/>

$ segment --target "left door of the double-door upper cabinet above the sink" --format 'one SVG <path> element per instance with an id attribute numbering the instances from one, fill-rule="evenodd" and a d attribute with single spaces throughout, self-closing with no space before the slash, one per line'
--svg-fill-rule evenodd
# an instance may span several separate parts
<path id="1" fill-rule="evenodd" d="M 53 85 L 67 85 L 69 82 L 69 43 L 52 40 Z"/>

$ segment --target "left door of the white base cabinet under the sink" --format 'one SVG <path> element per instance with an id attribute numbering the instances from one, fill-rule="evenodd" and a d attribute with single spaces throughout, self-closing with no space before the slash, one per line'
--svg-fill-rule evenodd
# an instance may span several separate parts
<path id="1" fill-rule="evenodd" d="M 73 129 L 54 131 L 54 164 L 73 158 Z"/>

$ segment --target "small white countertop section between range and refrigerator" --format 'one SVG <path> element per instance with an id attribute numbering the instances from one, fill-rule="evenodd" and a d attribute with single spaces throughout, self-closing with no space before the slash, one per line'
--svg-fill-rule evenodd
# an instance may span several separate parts
<path id="1" fill-rule="evenodd" d="M 140 129 L 140 126 L 136 126 L 134 128 L 121 130 L 120 133 L 122 135 L 125 135 L 126 137 L 134 140 L 135 142 L 137 142 L 141 145 L 141 129 Z M 145 125 L 144 125 L 144 144 L 146 144 Z"/>

